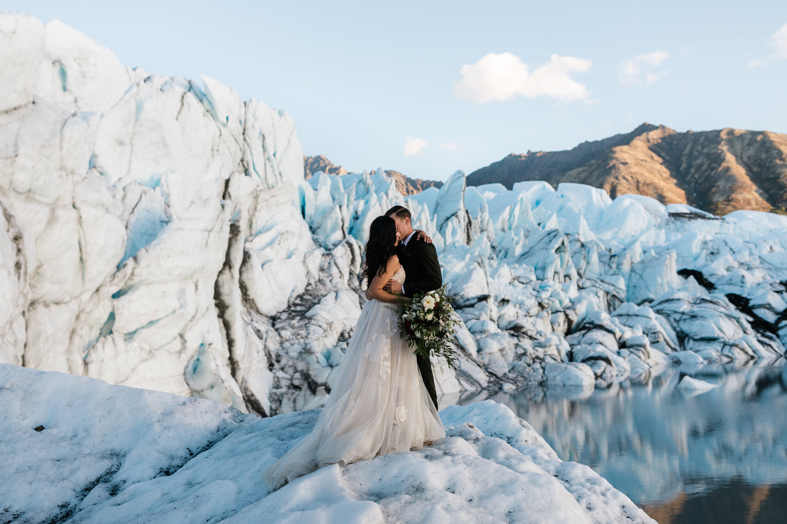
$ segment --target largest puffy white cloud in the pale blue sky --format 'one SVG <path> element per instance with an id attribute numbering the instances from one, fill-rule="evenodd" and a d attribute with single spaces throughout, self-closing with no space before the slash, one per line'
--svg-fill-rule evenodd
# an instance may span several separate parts
<path id="1" fill-rule="evenodd" d="M 517 95 L 578 101 L 589 97 L 590 91 L 568 74 L 587 71 L 592 64 L 590 60 L 553 54 L 549 64 L 530 72 L 528 65 L 512 53 L 489 53 L 475 64 L 462 66 L 459 72 L 463 78 L 453 85 L 453 94 L 478 104 L 507 101 Z"/>

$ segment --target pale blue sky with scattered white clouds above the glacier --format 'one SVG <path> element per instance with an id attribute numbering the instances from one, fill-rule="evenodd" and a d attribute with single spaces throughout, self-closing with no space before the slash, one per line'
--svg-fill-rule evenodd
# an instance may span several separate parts
<path id="1" fill-rule="evenodd" d="M 787 133 L 787 2 L 15 2 L 286 109 L 304 152 L 445 180 L 645 121 Z M 405 152 L 407 154 L 405 154 Z"/>

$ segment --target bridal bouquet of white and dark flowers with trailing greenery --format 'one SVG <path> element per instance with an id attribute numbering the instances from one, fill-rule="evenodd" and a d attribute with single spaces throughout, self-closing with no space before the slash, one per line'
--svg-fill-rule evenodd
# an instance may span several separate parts
<path id="1" fill-rule="evenodd" d="M 427 293 L 418 293 L 405 304 L 399 329 L 408 347 L 416 347 L 413 353 L 427 360 L 432 356 L 438 357 L 441 369 L 443 363 L 455 368 L 454 350 L 449 346 L 449 340 L 459 324 L 453 317 L 451 299 L 445 296 L 443 286 Z"/>

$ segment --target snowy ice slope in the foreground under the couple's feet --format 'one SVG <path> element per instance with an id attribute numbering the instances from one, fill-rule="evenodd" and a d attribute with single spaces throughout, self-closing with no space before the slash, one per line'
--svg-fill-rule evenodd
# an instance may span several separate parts
<path id="1" fill-rule="evenodd" d="M 275 493 L 260 472 L 319 410 L 260 419 L 13 365 L 0 365 L 0 404 L 0 522 L 653 522 L 493 401 L 444 409 L 448 436 L 417 453 Z"/>

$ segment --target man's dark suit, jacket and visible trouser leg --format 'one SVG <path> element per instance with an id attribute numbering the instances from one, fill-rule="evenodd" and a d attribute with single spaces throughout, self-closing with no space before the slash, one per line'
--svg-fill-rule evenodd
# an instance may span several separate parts
<path id="1" fill-rule="evenodd" d="M 404 290 L 408 299 L 412 299 L 416 293 L 433 291 L 442 286 L 442 272 L 440 271 L 440 262 L 438 262 L 438 252 L 434 249 L 434 245 L 417 240 L 416 235 L 413 235 L 406 246 L 405 244 L 399 245 L 397 256 L 399 263 L 405 268 Z M 416 360 L 423 377 L 423 383 L 434 402 L 434 408 L 437 409 L 438 395 L 434 388 L 432 365 L 430 361 L 422 357 L 417 357 Z"/>

